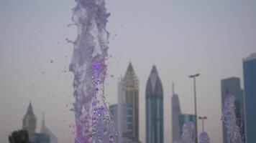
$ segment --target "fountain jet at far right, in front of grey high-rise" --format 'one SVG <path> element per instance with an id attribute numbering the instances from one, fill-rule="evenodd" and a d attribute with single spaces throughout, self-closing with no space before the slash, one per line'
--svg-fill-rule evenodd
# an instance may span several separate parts
<path id="1" fill-rule="evenodd" d="M 237 126 L 237 117 L 234 114 L 234 96 L 232 94 L 227 94 L 221 120 L 227 128 L 227 142 L 242 143 L 240 129 Z"/>

